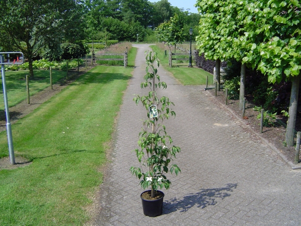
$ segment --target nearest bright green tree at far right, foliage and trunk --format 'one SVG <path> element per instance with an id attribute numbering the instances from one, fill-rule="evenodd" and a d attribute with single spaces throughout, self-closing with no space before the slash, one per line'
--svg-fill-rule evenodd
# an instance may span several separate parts
<path id="1" fill-rule="evenodd" d="M 262 37 L 244 58 L 275 83 L 291 80 L 286 144 L 293 146 L 301 69 L 301 6 L 299 1 L 259 1 L 248 4 L 248 33 Z M 253 29 L 251 29 L 253 28 Z"/>

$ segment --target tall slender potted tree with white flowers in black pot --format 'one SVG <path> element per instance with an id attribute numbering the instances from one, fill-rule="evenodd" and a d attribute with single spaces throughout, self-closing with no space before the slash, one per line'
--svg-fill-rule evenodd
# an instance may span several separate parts
<path id="1" fill-rule="evenodd" d="M 170 188 L 171 181 L 167 179 L 167 173 L 175 172 L 178 175 L 181 172 L 176 164 L 171 164 L 180 148 L 172 146 L 173 140 L 167 134 L 163 122 L 176 116 L 175 111 L 170 107 L 173 102 L 166 96 L 161 98 L 157 96 L 157 89 L 166 89 L 167 84 L 160 81 L 157 74 L 160 66 L 156 52 L 145 52 L 146 54 L 146 75 L 141 83 L 141 88 L 149 88 L 148 95 L 135 95 L 134 101 L 139 102 L 145 107 L 147 120 L 143 121 L 143 127 L 139 133 L 139 149 L 135 149 L 140 167 L 132 166 L 130 171 L 138 179 L 143 189 L 150 187 L 141 193 L 143 213 L 148 216 L 158 216 L 163 211 L 164 193 L 159 188 Z M 149 72 L 150 71 L 150 72 Z M 144 169 L 144 170 L 143 170 Z"/>

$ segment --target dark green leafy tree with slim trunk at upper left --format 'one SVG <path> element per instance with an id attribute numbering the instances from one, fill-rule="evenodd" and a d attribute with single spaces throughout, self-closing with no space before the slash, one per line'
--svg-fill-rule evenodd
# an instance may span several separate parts
<path id="1" fill-rule="evenodd" d="M 1 43 L 25 54 L 31 77 L 32 59 L 41 48 L 81 33 L 81 8 L 74 0 L 2 0 L 0 9 Z"/>

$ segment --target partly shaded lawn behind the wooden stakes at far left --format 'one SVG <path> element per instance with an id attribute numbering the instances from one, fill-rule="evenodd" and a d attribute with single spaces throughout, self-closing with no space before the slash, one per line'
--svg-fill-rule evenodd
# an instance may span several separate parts
<path id="1" fill-rule="evenodd" d="M 8 90 L 9 106 L 14 106 L 17 103 L 27 98 L 26 91 L 26 75 L 29 75 L 29 70 L 21 71 L 6 71 L 6 85 Z M 30 95 L 33 95 L 48 86 L 50 86 L 50 71 L 49 70 L 34 70 L 35 78 L 29 81 Z M 52 83 L 57 83 L 60 79 L 66 77 L 66 71 L 52 70 Z M 0 109 L 4 109 L 3 84 L 0 79 Z"/>

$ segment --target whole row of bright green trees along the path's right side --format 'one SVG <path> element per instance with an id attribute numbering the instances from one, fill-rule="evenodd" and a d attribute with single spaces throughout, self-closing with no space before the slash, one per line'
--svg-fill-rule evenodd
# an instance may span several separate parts
<path id="1" fill-rule="evenodd" d="M 200 53 L 216 60 L 216 68 L 224 60 L 241 62 L 241 108 L 246 66 L 260 70 L 271 83 L 292 81 L 286 129 L 286 144 L 292 146 L 301 69 L 299 1 L 198 0 L 196 5 Z"/>

